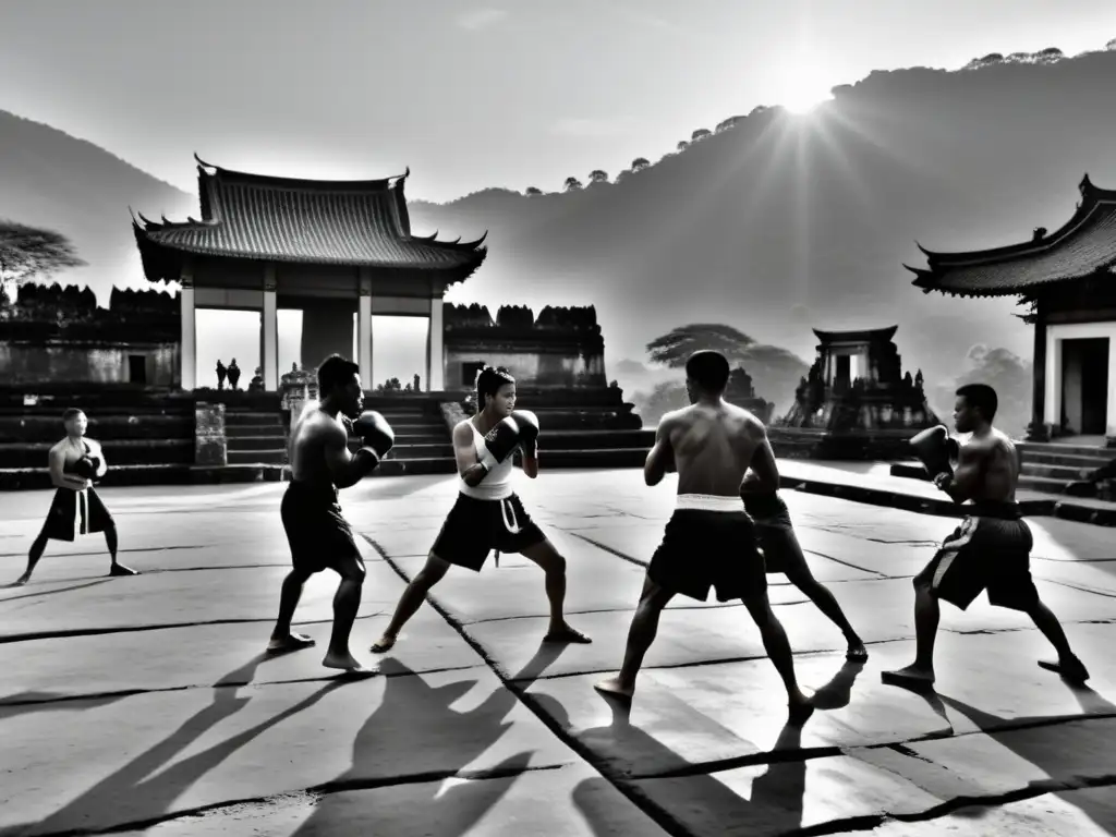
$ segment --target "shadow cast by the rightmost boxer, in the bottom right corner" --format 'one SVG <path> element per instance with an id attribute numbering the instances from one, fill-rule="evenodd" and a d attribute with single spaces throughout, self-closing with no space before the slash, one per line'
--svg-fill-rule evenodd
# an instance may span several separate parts
<path id="1" fill-rule="evenodd" d="M 1067 788 L 1090 787 L 1090 778 L 1110 777 L 1113 753 L 1116 752 L 1116 704 L 1087 686 L 1067 686 L 1081 705 L 1081 715 L 1032 715 L 1029 718 L 1001 718 L 947 695 L 942 701 L 972 721 L 981 732 L 990 735 L 1020 759 L 1030 762 L 1048 778 L 1031 780 L 1027 787 L 1046 791 L 1074 806 L 1109 833 L 1116 833 L 1116 806 L 1110 801 L 1112 791 L 1104 796 L 1074 793 Z M 1093 721 L 1091 715 L 1100 715 Z M 1048 721 L 1048 724 L 1042 724 Z M 1029 729 L 1012 732 L 1013 727 Z"/>

